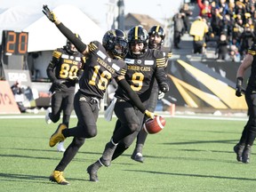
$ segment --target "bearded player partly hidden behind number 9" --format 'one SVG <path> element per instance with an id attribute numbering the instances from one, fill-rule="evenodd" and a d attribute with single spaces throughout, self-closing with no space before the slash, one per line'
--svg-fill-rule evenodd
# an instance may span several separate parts
<path id="1" fill-rule="evenodd" d="M 164 57 L 166 60 L 166 63 L 165 63 L 166 64 L 165 68 L 166 68 L 169 58 L 172 57 L 172 52 L 170 52 L 168 50 L 163 51 L 162 44 L 164 44 L 164 37 L 165 37 L 164 28 L 162 28 L 159 25 L 155 25 L 152 28 L 149 28 L 148 36 L 149 36 L 148 48 L 161 50 L 162 52 L 164 52 Z M 164 92 L 158 91 L 158 84 L 155 80 L 155 83 L 153 84 L 152 92 L 150 95 L 150 99 L 148 102 L 147 109 L 149 111 L 155 111 L 157 100 L 162 100 L 163 98 L 164 98 Z M 144 118 L 144 122 L 146 121 L 146 119 L 147 118 Z M 147 136 L 148 136 L 148 133 L 144 132 L 144 130 L 141 129 L 137 136 L 136 146 L 135 146 L 132 156 L 131 156 L 131 158 L 134 161 L 143 163 L 144 157 L 142 155 L 142 148 L 145 144 Z"/>

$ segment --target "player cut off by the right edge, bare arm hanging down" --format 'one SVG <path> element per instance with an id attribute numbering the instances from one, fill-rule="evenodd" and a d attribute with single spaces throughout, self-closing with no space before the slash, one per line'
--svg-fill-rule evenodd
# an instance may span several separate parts
<path id="1" fill-rule="evenodd" d="M 236 96 L 241 97 L 244 72 L 251 68 L 251 75 L 245 90 L 245 100 L 248 106 L 249 119 L 244 126 L 241 139 L 234 147 L 236 160 L 248 164 L 252 153 L 252 145 L 256 137 L 256 44 L 248 50 L 242 64 L 236 73 Z"/>

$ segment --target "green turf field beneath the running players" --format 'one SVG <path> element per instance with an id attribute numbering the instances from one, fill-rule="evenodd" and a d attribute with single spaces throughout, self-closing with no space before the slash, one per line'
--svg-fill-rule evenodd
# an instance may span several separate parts
<path id="1" fill-rule="evenodd" d="M 255 188 L 256 158 L 236 162 L 233 147 L 245 121 L 166 118 L 164 131 L 149 135 L 145 163 L 131 160 L 134 148 L 99 171 L 100 182 L 90 182 L 86 167 L 97 160 L 110 139 L 115 120 L 98 121 L 98 135 L 86 140 L 65 170 L 69 186 L 48 180 L 62 153 L 48 147 L 57 124 L 43 118 L 0 119 L 0 191 L 113 191 L 113 192 L 234 192 Z M 72 118 L 70 126 L 76 124 Z M 65 141 L 65 147 L 71 138 Z"/>

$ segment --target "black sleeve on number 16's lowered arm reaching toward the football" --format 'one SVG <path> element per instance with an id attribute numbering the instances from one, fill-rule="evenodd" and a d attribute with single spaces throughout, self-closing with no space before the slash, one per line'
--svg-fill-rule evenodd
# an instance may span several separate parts
<path id="1" fill-rule="evenodd" d="M 119 84 L 124 89 L 124 91 L 128 94 L 128 97 L 132 100 L 134 105 L 137 108 L 139 108 L 139 110 L 144 114 L 146 108 L 142 104 L 138 94 L 136 92 L 133 92 L 130 84 L 128 84 L 125 79 L 122 79 L 122 80 L 118 81 L 117 84 Z"/>

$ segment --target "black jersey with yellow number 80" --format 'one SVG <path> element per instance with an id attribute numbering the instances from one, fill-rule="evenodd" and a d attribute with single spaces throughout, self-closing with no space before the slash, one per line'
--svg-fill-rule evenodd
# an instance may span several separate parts
<path id="1" fill-rule="evenodd" d="M 56 79 L 63 80 L 62 88 L 58 91 L 74 92 L 76 81 L 74 77 L 81 76 L 82 71 L 77 67 L 78 63 L 84 59 L 80 52 L 69 54 L 65 47 L 58 48 L 52 52 L 52 60 L 47 67 L 47 75 L 54 82 Z M 51 91 L 56 91 L 55 87 L 51 87 Z"/>

